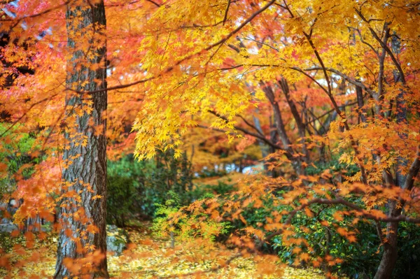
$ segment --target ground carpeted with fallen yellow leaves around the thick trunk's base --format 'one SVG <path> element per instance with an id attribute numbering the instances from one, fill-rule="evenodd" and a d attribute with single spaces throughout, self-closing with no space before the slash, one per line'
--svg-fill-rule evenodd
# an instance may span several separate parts
<path id="1" fill-rule="evenodd" d="M 109 254 L 111 278 L 324 278 L 321 271 L 256 263 L 253 257 L 238 257 L 228 266 L 203 273 L 223 265 L 235 255 L 235 251 L 200 242 L 184 243 L 172 249 L 169 241 L 151 238 L 147 230 L 141 229 L 129 230 L 129 235 L 132 243 L 123 255 L 113 257 Z M 7 258 L 13 267 L 10 270 L 0 269 L 0 278 L 52 277 L 56 238 L 48 236 L 42 241 L 36 240 L 30 249 L 26 245 L 22 243 L 13 248 L 13 253 Z M 13 264 L 22 259 L 25 259 L 25 266 Z"/>

